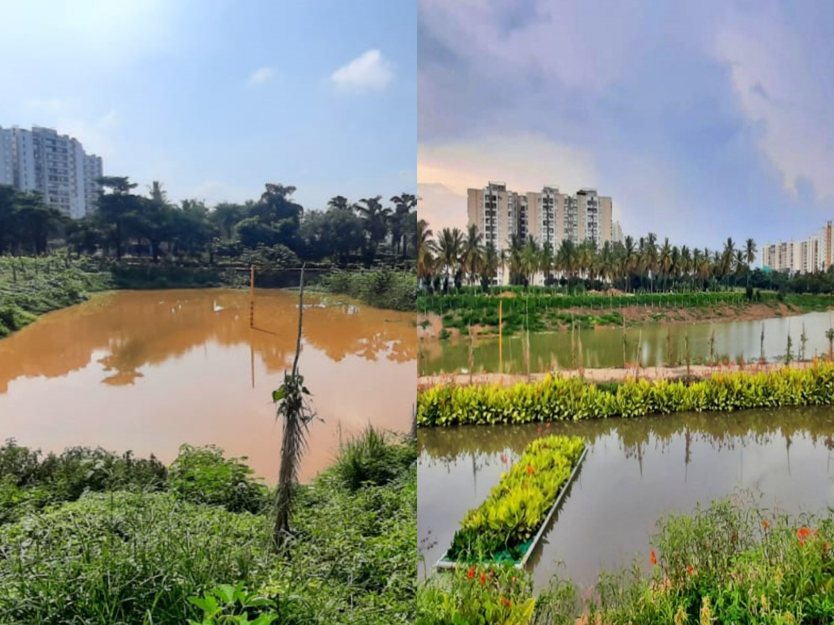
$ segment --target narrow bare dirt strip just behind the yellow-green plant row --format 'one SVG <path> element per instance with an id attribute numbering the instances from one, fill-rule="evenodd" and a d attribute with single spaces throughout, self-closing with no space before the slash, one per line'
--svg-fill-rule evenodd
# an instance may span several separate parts
<path id="1" fill-rule="evenodd" d="M 811 366 L 811 362 L 791 363 L 791 368 L 804 369 Z M 731 371 L 761 372 L 771 371 L 785 367 L 782 363 L 747 364 L 739 366 L 736 363 L 726 365 L 692 365 L 688 375 L 691 378 L 707 378 L 713 373 L 726 373 Z M 641 378 L 646 380 L 679 380 L 687 376 L 686 367 L 646 367 L 646 368 L 603 368 L 584 369 L 581 372 L 576 370 L 560 369 L 551 372 L 551 375 L 559 375 L 565 378 L 583 376 L 585 380 L 592 383 L 625 382 L 626 378 Z M 507 373 L 479 373 L 470 375 L 468 373 L 455 373 L 437 376 L 420 376 L 417 378 L 417 390 L 425 390 L 437 385 L 467 386 L 469 384 L 501 384 L 513 386 L 518 383 L 539 382 L 545 378 L 547 373 L 530 373 L 526 375 L 510 375 Z"/>

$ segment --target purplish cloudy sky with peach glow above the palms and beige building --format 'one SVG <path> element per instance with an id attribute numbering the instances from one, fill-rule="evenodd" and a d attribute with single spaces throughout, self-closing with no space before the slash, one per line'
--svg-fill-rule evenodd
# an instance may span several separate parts
<path id="1" fill-rule="evenodd" d="M 834 2 L 418 0 L 419 213 L 466 188 L 613 198 L 624 233 L 720 248 L 834 219 Z"/>

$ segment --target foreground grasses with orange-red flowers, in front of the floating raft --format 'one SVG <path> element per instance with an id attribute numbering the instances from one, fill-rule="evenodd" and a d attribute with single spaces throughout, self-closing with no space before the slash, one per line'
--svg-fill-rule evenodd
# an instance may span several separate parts
<path id="1" fill-rule="evenodd" d="M 555 577 L 534 598 L 529 572 L 470 567 L 417 589 L 420 625 L 792 625 L 834 619 L 834 511 L 801 517 L 740 493 L 691 515 L 661 519 L 651 565 L 601 572 L 580 591 Z"/>

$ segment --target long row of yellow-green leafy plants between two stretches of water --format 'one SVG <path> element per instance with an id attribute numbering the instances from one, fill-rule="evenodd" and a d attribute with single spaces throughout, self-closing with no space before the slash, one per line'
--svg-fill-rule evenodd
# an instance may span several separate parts
<path id="1" fill-rule="evenodd" d="M 537 383 L 437 386 L 417 395 L 420 427 L 578 421 L 656 413 L 834 404 L 834 363 L 799 369 L 714 373 L 691 383 L 629 380 L 615 389 L 582 378 L 546 376 Z"/>

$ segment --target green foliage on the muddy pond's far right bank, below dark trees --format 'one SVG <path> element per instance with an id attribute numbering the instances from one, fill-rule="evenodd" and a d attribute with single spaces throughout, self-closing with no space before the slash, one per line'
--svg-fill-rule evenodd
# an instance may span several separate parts
<path id="1" fill-rule="evenodd" d="M 379 269 L 369 272 L 335 272 L 322 278 L 331 293 L 347 295 L 374 308 L 414 311 L 417 276 L 409 272 Z"/>

